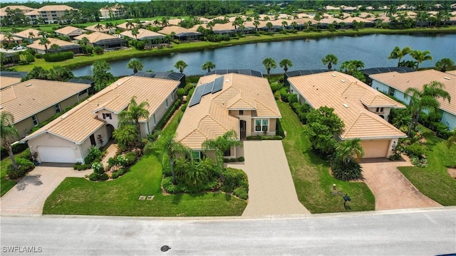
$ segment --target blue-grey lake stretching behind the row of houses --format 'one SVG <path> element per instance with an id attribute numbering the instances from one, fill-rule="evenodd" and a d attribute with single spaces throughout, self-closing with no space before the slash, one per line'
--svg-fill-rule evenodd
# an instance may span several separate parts
<path id="1" fill-rule="evenodd" d="M 143 71 L 175 70 L 177 60 L 188 64 L 184 73 L 201 75 L 205 73 L 201 65 L 207 60 L 212 61 L 216 69 L 253 69 L 266 73 L 262 62 L 265 58 L 276 60 L 277 68 L 271 73 L 281 73 L 280 60 L 288 58 L 293 63 L 292 70 L 324 69 L 326 65 L 321 59 L 327 54 L 337 56 L 339 63 L 333 65 L 338 69 L 346 60 L 362 60 L 365 68 L 395 67 L 398 60 L 388 60 L 395 46 L 412 50 L 430 50 L 433 60 L 424 61 L 420 67 L 432 67 L 437 60 L 451 58 L 456 62 L 456 34 L 413 34 L 412 35 L 382 35 L 366 36 L 333 36 L 329 38 L 312 38 L 293 41 L 278 41 L 267 43 L 250 43 L 239 46 L 200 50 L 190 53 L 170 53 L 169 55 L 134 58 L 144 65 Z M 410 56 L 404 60 L 412 60 Z M 126 68 L 129 60 L 119 60 L 110 63 L 110 72 L 115 76 L 131 75 L 132 70 Z M 76 77 L 91 75 L 91 65 L 72 70 Z"/>

